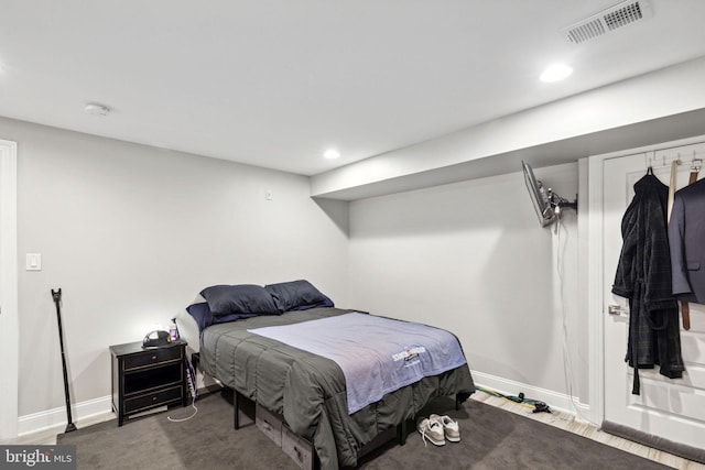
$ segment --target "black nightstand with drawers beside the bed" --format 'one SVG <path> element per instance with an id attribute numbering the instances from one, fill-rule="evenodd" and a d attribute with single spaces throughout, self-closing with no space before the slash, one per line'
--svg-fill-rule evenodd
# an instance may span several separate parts
<path id="1" fill-rule="evenodd" d="M 112 407 L 118 426 L 124 417 L 159 406 L 186 406 L 188 394 L 184 361 L 186 341 L 142 349 L 142 341 L 110 347 Z"/>

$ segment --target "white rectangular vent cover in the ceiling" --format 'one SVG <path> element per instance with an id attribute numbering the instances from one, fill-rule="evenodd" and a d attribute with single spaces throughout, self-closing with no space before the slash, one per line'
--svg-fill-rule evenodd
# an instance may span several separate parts
<path id="1" fill-rule="evenodd" d="M 653 17 L 649 0 L 627 0 L 561 30 L 573 44 L 599 37 L 611 31 Z"/>

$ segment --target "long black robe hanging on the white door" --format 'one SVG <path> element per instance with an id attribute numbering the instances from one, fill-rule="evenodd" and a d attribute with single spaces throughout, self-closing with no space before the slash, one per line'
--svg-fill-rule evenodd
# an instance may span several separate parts
<path id="1" fill-rule="evenodd" d="M 629 299 L 626 361 L 634 368 L 631 393 L 639 395 L 639 369 L 661 367 L 677 379 L 681 358 L 679 307 L 671 291 L 668 239 L 669 187 L 651 168 L 634 184 L 634 197 L 621 220 L 622 248 L 612 293 Z"/>

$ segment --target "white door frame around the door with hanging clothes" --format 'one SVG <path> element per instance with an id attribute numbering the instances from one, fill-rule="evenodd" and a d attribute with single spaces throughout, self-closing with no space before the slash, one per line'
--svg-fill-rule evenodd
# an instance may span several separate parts
<path id="1" fill-rule="evenodd" d="M 605 305 L 604 298 L 604 163 L 606 160 L 637 153 L 691 145 L 705 141 L 705 135 L 662 142 L 588 157 L 588 315 L 589 315 L 589 419 L 601 424 L 605 419 Z"/>

